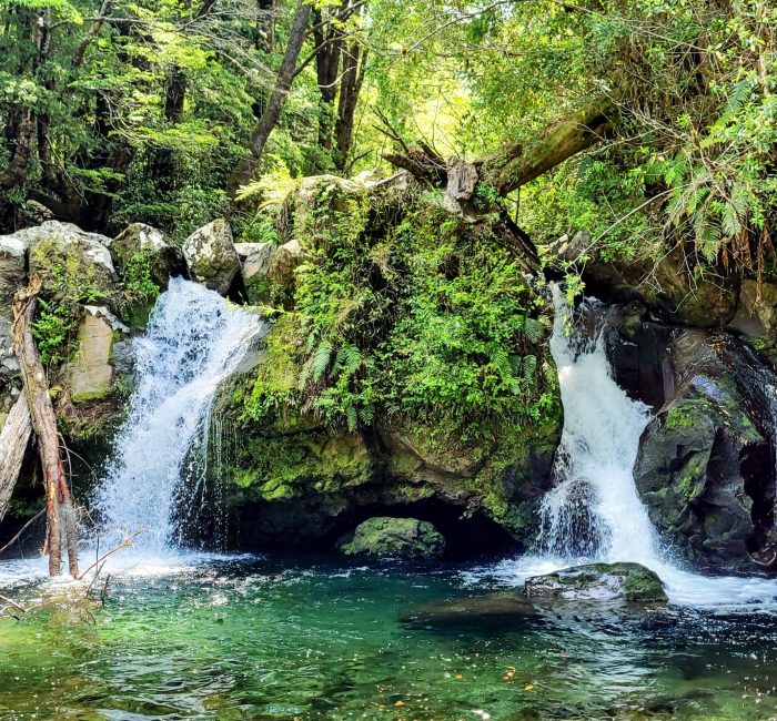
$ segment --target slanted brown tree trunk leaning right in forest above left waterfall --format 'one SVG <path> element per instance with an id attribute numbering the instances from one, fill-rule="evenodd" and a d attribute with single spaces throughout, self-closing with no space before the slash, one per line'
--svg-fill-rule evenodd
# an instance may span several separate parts
<path id="1" fill-rule="evenodd" d="M 264 146 L 268 143 L 268 138 L 273 131 L 278 121 L 281 116 L 281 111 L 286 102 L 286 97 L 289 95 L 289 89 L 291 88 L 292 80 L 294 79 L 294 71 L 296 69 L 296 60 L 300 57 L 300 51 L 305 42 L 307 35 L 307 23 L 311 17 L 311 6 L 305 2 L 305 0 L 300 0 L 296 7 L 296 14 L 294 16 L 294 21 L 292 23 L 291 32 L 289 34 L 289 44 L 286 44 L 286 52 L 283 57 L 283 62 L 278 71 L 278 79 L 275 81 L 275 89 L 268 101 L 268 106 L 264 109 L 262 116 L 254 125 L 253 132 L 251 133 L 250 148 L 251 155 L 246 155 L 240 160 L 238 166 L 234 169 L 230 182 L 228 183 L 226 190 L 230 194 L 232 201 L 234 201 L 238 191 L 241 185 L 245 185 L 251 180 L 259 161 L 262 159 L 262 153 L 264 152 Z"/>

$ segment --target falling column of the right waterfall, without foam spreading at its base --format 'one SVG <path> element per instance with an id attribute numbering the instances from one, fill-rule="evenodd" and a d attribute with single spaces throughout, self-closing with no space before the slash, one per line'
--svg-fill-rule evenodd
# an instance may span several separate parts
<path id="1" fill-rule="evenodd" d="M 556 486 L 541 509 L 539 545 L 548 556 L 575 562 L 655 565 L 655 532 L 632 475 L 649 409 L 614 380 L 604 325 L 593 338 L 575 334 L 564 293 L 557 285 L 552 292 L 551 353 L 558 369 L 564 430 L 554 468 Z"/>

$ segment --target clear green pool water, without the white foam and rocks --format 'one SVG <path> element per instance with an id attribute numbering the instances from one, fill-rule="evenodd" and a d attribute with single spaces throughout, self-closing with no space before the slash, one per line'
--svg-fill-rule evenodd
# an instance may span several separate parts
<path id="1" fill-rule="evenodd" d="M 770 613 L 577 607 L 402 620 L 501 587 L 483 576 L 472 586 L 470 570 L 189 557 L 121 575 L 104 606 L 70 605 L 65 583 L 60 601 L 0 620 L 0 718 L 777 717 Z M 9 583 L 17 598 L 52 592 L 0 578 Z"/>

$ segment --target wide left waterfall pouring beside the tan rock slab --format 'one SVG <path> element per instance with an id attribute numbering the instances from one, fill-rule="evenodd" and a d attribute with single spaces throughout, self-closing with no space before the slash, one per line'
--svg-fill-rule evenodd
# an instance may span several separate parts
<path id="1" fill-rule="evenodd" d="M 195 498 L 205 478 L 193 451 L 206 458 L 215 392 L 265 332 L 260 315 L 195 283 L 170 281 L 145 335 L 132 342 L 137 386 L 94 498 L 109 542 L 142 529 L 134 541 L 141 552 L 176 545 L 179 496 Z"/>

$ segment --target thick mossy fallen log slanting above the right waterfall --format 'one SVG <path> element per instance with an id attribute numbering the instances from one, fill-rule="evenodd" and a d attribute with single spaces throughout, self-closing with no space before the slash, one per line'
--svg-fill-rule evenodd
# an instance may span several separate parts
<path id="1" fill-rule="evenodd" d="M 483 161 L 480 176 L 500 195 L 517 190 L 559 163 L 591 148 L 613 132 L 615 109 L 599 99 L 571 118 L 553 125 L 537 144 L 529 149 L 513 145 Z"/>

